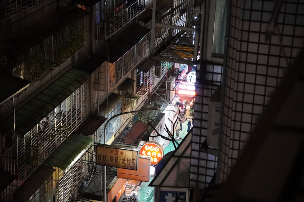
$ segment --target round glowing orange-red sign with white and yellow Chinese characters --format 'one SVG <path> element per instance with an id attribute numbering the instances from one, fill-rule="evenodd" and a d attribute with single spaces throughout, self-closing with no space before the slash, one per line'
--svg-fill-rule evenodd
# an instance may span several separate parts
<path id="1" fill-rule="evenodd" d="M 153 165 L 164 156 L 164 149 L 157 141 L 148 141 L 141 147 L 140 154 L 151 157 L 151 165 Z"/>

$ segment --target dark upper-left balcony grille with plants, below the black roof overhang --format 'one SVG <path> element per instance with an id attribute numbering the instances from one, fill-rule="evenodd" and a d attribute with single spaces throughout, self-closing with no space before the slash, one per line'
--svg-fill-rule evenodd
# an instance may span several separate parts
<path id="1" fill-rule="evenodd" d="M 80 18 L 18 56 L 13 75 L 32 83 L 84 46 L 84 18 Z"/>

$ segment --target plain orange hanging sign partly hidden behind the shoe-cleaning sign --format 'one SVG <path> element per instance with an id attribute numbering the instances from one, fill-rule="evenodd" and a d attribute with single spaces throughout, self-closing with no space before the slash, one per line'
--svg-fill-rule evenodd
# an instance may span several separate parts
<path id="1" fill-rule="evenodd" d="M 130 169 L 117 168 L 117 177 L 129 180 L 149 182 L 151 160 L 147 156 L 139 156 L 137 171 Z"/>

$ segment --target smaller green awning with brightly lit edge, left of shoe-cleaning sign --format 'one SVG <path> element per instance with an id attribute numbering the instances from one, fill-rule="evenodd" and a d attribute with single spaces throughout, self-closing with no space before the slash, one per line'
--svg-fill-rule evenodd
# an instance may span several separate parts
<path id="1" fill-rule="evenodd" d="M 93 139 L 91 137 L 71 134 L 43 163 L 66 172 L 92 143 Z"/>

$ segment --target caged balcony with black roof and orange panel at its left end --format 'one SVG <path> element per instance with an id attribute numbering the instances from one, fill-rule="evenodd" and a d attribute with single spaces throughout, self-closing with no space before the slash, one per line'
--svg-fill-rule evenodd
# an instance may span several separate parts
<path id="1" fill-rule="evenodd" d="M 136 23 L 107 42 L 100 55 L 105 59 L 101 70 L 101 90 L 110 91 L 147 54 L 147 29 Z"/>

